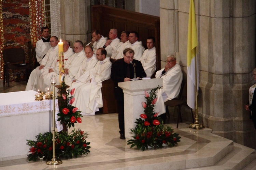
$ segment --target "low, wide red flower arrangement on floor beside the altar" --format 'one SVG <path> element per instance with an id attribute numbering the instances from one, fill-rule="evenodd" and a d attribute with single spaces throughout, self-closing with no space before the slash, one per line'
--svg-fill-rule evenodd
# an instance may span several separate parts
<path id="1" fill-rule="evenodd" d="M 29 161 L 36 161 L 38 158 L 43 158 L 44 160 L 51 160 L 53 157 L 53 134 L 52 132 L 45 132 L 35 136 L 36 141 L 27 140 L 27 145 L 31 148 L 29 149 L 30 154 L 27 156 Z M 69 135 L 66 133 L 55 133 L 55 157 L 59 158 L 72 158 L 78 155 L 88 154 L 91 148 L 89 146 L 90 142 L 86 142 L 88 134 L 84 131 L 72 130 Z"/>

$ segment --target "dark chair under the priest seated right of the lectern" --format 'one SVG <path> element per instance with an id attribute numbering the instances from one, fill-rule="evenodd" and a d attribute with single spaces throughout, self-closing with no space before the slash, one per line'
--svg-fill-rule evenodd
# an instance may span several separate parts
<path id="1" fill-rule="evenodd" d="M 182 122 L 181 106 L 188 106 L 187 105 L 187 83 L 184 80 L 182 80 L 182 83 L 181 83 L 181 90 L 180 90 L 179 97 L 166 101 L 165 105 L 166 105 L 166 120 L 170 119 L 170 113 L 168 110 L 168 106 L 169 107 L 178 106 L 178 108 L 179 108 L 178 119 L 177 119 L 177 128 L 178 128 L 179 119 Z M 190 108 L 190 110 L 191 110 L 191 115 L 192 115 L 192 119 L 194 122 L 193 110 L 191 108 Z"/>

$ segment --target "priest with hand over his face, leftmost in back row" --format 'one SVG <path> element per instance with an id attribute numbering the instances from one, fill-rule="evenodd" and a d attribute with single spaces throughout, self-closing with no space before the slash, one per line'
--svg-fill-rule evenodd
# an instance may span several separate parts
<path id="1" fill-rule="evenodd" d="M 98 48 L 102 48 L 105 45 L 108 38 L 105 38 L 103 35 L 101 35 L 98 30 L 91 31 L 91 36 L 93 38 L 91 38 L 91 42 L 87 45 L 93 47 L 93 51 L 96 53 Z"/>

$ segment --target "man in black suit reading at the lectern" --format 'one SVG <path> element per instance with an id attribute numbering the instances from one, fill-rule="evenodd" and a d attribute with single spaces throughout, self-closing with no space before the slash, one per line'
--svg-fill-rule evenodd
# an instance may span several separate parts
<path id="1" fill-rule="evenodd" d="M 123 55 L 124 58 L 116 60 L 111 67 L 111 79 L 115 82 L 115 97 L 117 99 L 120 139 L 125 139 L 124 93 L 123 90 L 117 86 L 117 83 L 130 81 L 134 78 L 133 66 L 135 67 L 137 78 L 146 77 L 146 73 L 141 62 L 133 60 L 134 51 L 132 49 L 126 48 Z"/>

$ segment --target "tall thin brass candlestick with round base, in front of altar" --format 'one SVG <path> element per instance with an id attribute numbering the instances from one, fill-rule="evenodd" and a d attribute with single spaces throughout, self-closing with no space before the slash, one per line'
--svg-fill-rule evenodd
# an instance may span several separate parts
<path id="1" fill-rule="evenodd" d="M 57 82 L 56 78 L 53 77 L 51 79 L 51 83 L 53 85 L 53 122 L 52 122 L 52 128 L 53 128 L 53 158 L 52 160 L 49 160 L 46 162 L 47 165 L 59 165 L 62 164 L 61 160 L 57 160 L 55 158 L 55 95 L 54 95 L 54 84 Z"/>

